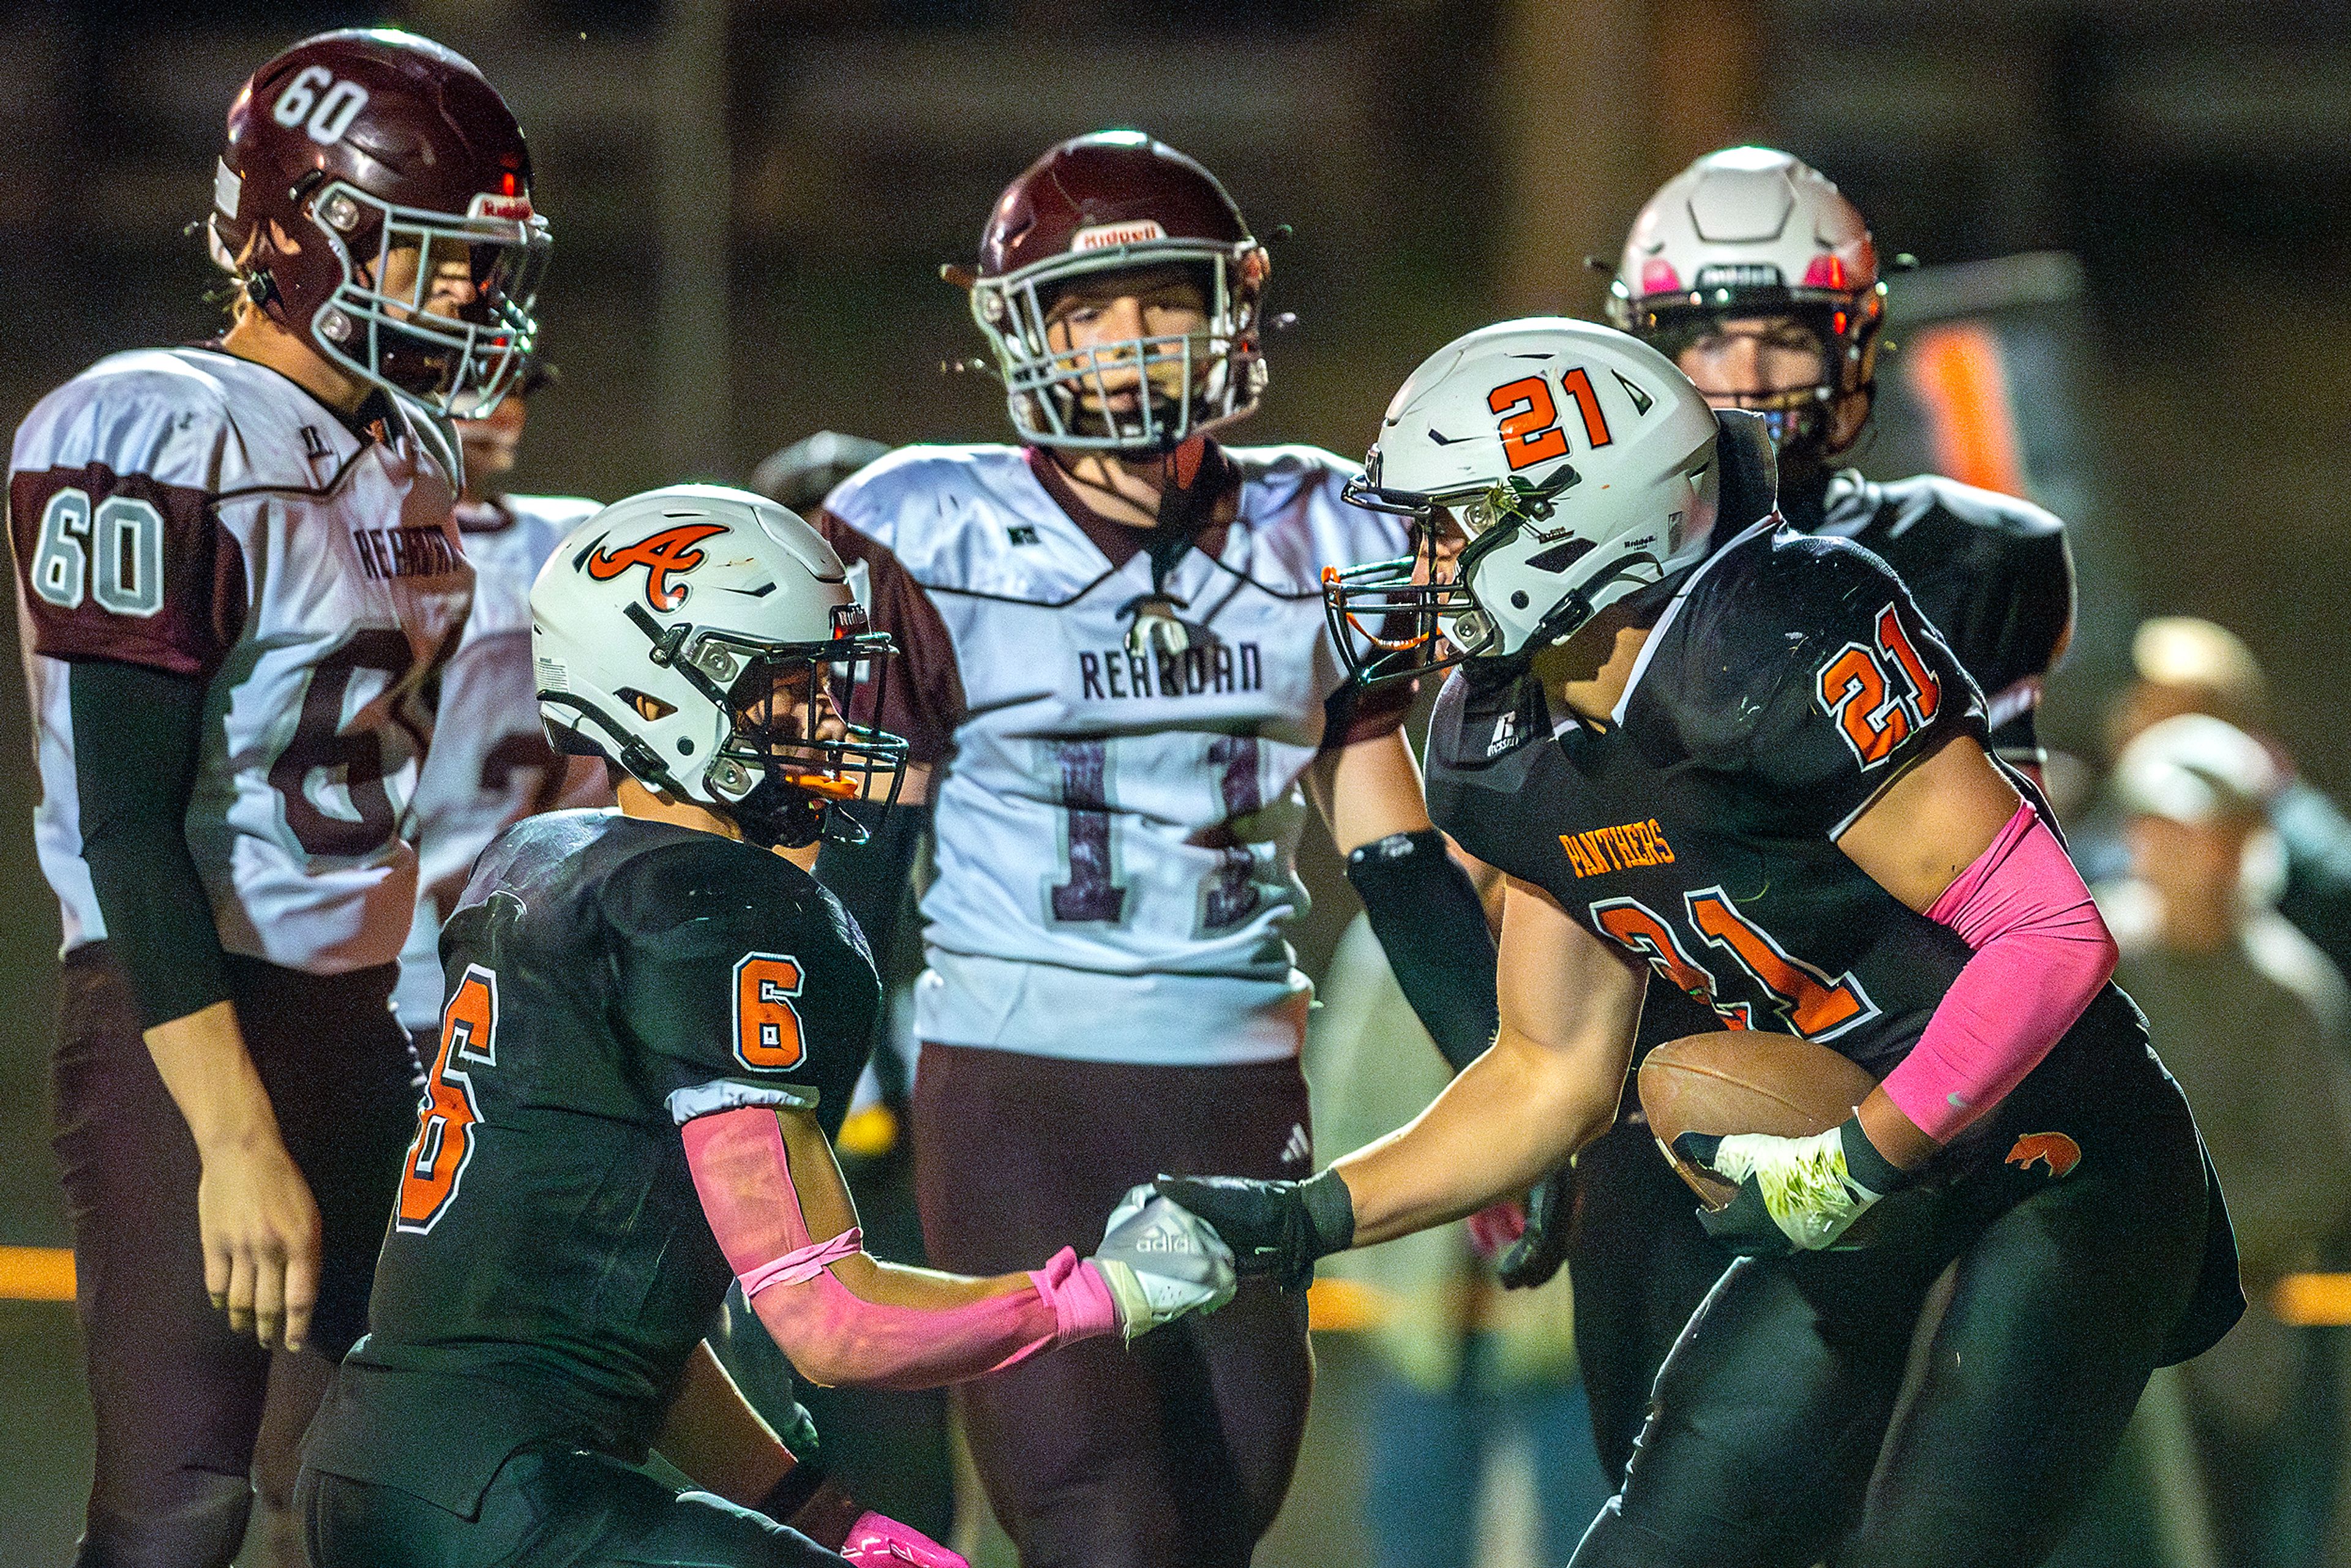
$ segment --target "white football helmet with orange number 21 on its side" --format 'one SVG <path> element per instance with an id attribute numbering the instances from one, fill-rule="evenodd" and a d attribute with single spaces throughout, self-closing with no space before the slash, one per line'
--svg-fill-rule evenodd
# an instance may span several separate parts
<path id="1" fill-rule="evenodd" d="M 1697 562 L 1714 435 L 1714 409 L 1665 355 L 1592 322 L 1498 322 L 1429 355 L 1347 484 L 1357 505 L 1420 522 L 1422 548 L 1324 571 L 1354 677 L 1533 654 Z M 1436 581 L 1436 508 L 1469 536 L 1453 581 Z M 1349 628 L 1380 654 L 1359 658 Z M 1453 654 L 1432 658 L 1439 632 Z"/>

